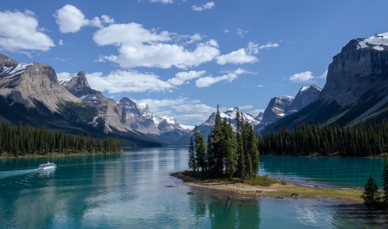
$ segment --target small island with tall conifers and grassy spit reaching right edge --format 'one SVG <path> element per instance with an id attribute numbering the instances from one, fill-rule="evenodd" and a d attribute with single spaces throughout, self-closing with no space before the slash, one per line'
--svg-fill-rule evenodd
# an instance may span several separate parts
<path id="1" fill-rule="evenodd" d="M 237 113 L 236 133 L 226 118 L 221 119 L 217 107 L 215 125 L 205 144 L 204 136 L 194 128 L 189 148 L 188 166 L 191 169 L 170 174 L 186 185 L 237 194 L 254 194 L 275 198 L 329 198 L 349 203 L 365 203 L 369 207 L 387 209 L 388 159 L 384 159 L 383 192 L 372 178 L 364 188 L 339 189 L 307 187 L 282 179 L 258 176 L 259 138 L 248 123 Z M 284 129 L 283 129 L 284 132 Z M 282 133 L 282 132 L 281 132 Z M 381 196 L 381 197 L 380 197 Z"/>

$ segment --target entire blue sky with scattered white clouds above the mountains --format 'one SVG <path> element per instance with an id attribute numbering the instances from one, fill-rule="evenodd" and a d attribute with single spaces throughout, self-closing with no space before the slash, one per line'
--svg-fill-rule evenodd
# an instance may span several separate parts
<path id="1" fill-rule="evenodd" d="M 383 0 L 4 1 L 0 52 L 47 63 L 59 79 L 83 70 L 106 97 L 194 125 L 217 104 L 256 116 L 272 97 L 323 88 L 351 39 L 388 32 L 387 8 Z"/>

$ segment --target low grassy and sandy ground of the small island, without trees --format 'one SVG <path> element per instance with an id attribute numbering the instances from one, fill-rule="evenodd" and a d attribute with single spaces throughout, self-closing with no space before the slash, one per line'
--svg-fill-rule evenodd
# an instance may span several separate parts
<path id="1" fill-rule="evenodd" d="M 228 180 L 227 178 L 209 178 L 206 175 L 200 172 L 193 171 L 183 171 L 171 174 L 184 182 L 193 182 L 198 184 L 210 184 L 210 183 L 219 183 L 219 184 L 239 184 L 245 186 L 253 186 L 262 189 L 271 189 L 271 191 L 263 192 L 245 192 L 250 194 L 256 194 L 259 196 L 269 196 L 269 197 L 304 197 L 304 198 L 331 198 L 331 199 L 342 199 L 349 200 L 352 202 L 362 203 L 360 195 L 363 193 L 362 190 L 358 189 L 326 189 L 326 188 L 316 188 L 316 187 L 305 187 L 299 186 L 291 182 L 286 182 L 284 180 L 277 180 L 269 178 L 267 176 L 256 176 L 255 179 L 245 179 L 244 182 L 241 182 L 240 178 L 232 178 Z M 276 191 L 273 191 L 273 190 Z M 239 190 L 232 190 L 232 192 L 241 192 Z"/>

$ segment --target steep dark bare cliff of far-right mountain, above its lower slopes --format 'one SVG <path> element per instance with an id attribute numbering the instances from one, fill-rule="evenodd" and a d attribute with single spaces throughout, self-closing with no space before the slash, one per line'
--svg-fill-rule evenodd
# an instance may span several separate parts
<path id="1" fill-rule="evenodd" d="M 351 40 L 333 57 L 326 85 L 318 99 L 336 101 L 343 107 L 369 101 L 379 95 L 386 96 L 387 45 L 388 33 Z"/>

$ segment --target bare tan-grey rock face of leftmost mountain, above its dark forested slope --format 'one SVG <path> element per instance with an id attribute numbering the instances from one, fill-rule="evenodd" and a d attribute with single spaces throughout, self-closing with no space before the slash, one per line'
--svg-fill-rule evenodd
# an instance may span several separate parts
<path id="1" fill-rule="evenodd" d="M 58 105 L 65 102 L 82 103 L 60 85 L 51 66 L 22 65 L 3 54 L 0 54 L 0 95 L 27 107 L 36 106 L 38 101 L 51 112 L 59 112 Z"/>

